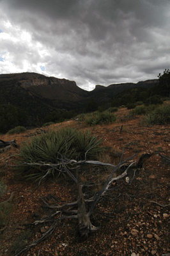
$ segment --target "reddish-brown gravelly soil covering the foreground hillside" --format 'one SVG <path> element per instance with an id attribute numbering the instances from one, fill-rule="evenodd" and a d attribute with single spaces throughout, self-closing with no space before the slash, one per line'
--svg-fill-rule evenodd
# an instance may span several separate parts
<path id="1" fill-rule="evenodd" d="M 138 160 L 142 154 L 152 152 L 161 152 L 170 158 L 170 125 L 147 127 L 141 124 L 141 116 L 132 119 L 128 114 L 126 108 L 119 109 L 114 124 L 88 127 L 83 122 L 72 120 L 52 127 L 58 129 L 70 125 L 78 129 L 89 129 L 102 138 L 103 145 L 107 147 L 108 159 L 101 161 L 110 159 L 112 164 L 119 163 L 123 148 L 123 159 L 136 153 L 134 159 Z M 37 184 L 20 180 L 13 170 L 14 155 L 19 152 L 20 144 L 31 140 L 31 133 L 36 131 L 39 130 L 16 135 L 5 134 L 0 138 L 4 141 L 16 140 L 19 146 L 0 155 L 0 179 L 3 177 L 8 186 L 8 193 L 3 200 L 7 200 L 15 191 L 14 210 L 6 227 L 0 227 L 0 255 L 3 256 L 17 254 L 50 227 L 51 223 L 30 225 L 51 213 L 40 200 L 41 196 L 54 195 L 64 202 L 75 200 L 73 182 L 61 178 L 47 180 L 33 193 Z M 103 180 L 105 176 L 104 173 Z M 112 191 L 112 195 L 97 204 L 91 223 L 100 229 L 91 232 L 88 239 L 80 239 L 77 220 L 61 220 L 51 236 L 21 255 L 170 255 L 169 163 L 154 154 L 141 170 L 133 170 L 127 176 L 130 178 L 129 183 L 125 177 L 118 180 L 118 188 Z"/>

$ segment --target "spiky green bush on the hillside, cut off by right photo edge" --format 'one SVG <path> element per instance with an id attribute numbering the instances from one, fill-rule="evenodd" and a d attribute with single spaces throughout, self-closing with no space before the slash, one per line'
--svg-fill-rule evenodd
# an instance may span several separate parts
<path id="1" fill-rule="evenodd" d="M 154 109 L 143 120 L 144 124 L 169 124 L 170 123 L 170 106 L 163 105 Z"/>

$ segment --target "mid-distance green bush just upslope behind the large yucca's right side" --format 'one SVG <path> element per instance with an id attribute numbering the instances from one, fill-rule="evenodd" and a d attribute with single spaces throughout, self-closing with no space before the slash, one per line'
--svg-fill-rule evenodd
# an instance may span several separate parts
<path id="1" fill-rule="evenodd" d="M 116 116 L 112 115 L 109 111 L 102 113 L 96 111 L 86 115 L 85 120 L 88 125 L 107 124 L 116 121 Z"/>

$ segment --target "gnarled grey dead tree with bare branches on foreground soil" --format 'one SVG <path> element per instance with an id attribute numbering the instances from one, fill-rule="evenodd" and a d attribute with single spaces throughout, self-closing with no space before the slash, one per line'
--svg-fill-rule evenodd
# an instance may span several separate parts
<path id="1" fill-rule="evenodd" d="M 17 255 L 15 255 L 15 256 L 19 256 L 20 253 L 26 252 L 31 247 L 33 247 L 36 244 L 43 241 L 46 237 L 50 236 L 50 234 L 52 234 L 52 232 L 57 227 L 58 220 L 61 220 L 61 219 L 66 219 L 66 218 L 77 219 L 79 222 L 78 228 L 79 228 L 79 233 L 81 234 L 81 237 L 86 238 L 86 237 L 88 237 L 89 232 L 91 232 L 93 230 L 97 230 L 98 227 L 94 227 L 92 225 L 90 216 L 93 213 L 95 206 L 99 202 L 100 198 L 102 196 L 107 195 L 107 193 L 109 191 L 109 187 L 112 185 L 112 182 L 114 182 L 114 180 L 118 180 L 118 179 L 121 179 L 122 177 L 125 177 L 125 175 L 127 175 L 128 168 L 130 168 L 133 164 L 136 163 L 135 161 L 133 161 L 132 163 L 130 161 L 134 158 L 134 156 L 128 157 L 127 159 L 122 160 L 122 158 L 123 158 L 123 154 L 122 154 L 120 163 L 116 166 L 114 166 L 113 164 L 102 163 L 99 161 L 86 161 L 86 160 L 85 161 L 75 161 L 75 160 L 70 160 L 70 159 L 63 159 L 62 157 L 60 159 L 61 160 L 60 163 L 58 163 L 58 164 L 27 163 L 29 165 L 37 164 L 37 165 L 48 166 L 49 169 L 47 170 L 47 172 L 45 173 L 43 178 L 48 175 L 49 170 L 51 170 L 51 168 L 54 168 L 54 169 L 58 170 L 59 172 L 62 172 L 61 168 L 59 168 L 59 167 L 63 166 L 63 172 L 67 173 L 72 178 L 72 180 L 76 183 L 78 196 L 77 196 L 77 201 L 64 203 L 64 204 L 61 203 L 57 198 L 55 198 L 56 204 L 54 204 L 54 205 L 49 205 L 47 200 L 45 198 L 42 198 L 43 203 L 47 207 L 55 209 L 56 212 L 54 214 L 51 214 L 50 216 L 42 218 L 41 220 L 35 221 L 34 224 L 37 225 L 38 223 L 45 223 L 45 222 L 51 220 L 51 218 L 54 218 L 55 216 L 58 216 L 58 215 L 59 216 L 56 220 L 54 220 L 54 223 L 50 226 L 49 230 L 47 230 L 47 232 L 45 232 L 45 234 L 43 234 L 43 236 L 40 239 L 34 241 L 29 246 L 26 246 L 26 248 L 24 248 L 22 251 L 17 253 Z M 100 166 L 112 167 L 112 172 L 109 175 L 109 177 L 107 178 L 107 180 L 105 181 L 103 188 L 97 193 L 97 195 L 93 195 L 91 198 L 88 198 L 88 199 L 84 198 L 84 194 L 82 193 L 82 188 L 83 188 L 84 184 L 81 184 L 81 182 L 79 180 L 78 170 L 81 170 L 82 164 L 83 165 L 91 164 L 94 166 L 100 165 Z M 72 168 L 68 168 L 68 166 L 70 166 L 70 165 L 72 166 Z M 124 171 L 117 177 L 113 177 L 114 173 L 116 173 L 116 171 L 118 171 L 120 168 L 123 168 L 123 167 L 124 167 Z M 75 171 L 75 169 L 77 169 L 76 175 L 73 174 L 73 170 Z M 42 181 L 42 179 L 40 180 L 40 182 Z M 40 186 L 40 182 L 39 182 L 38 186 Z M 87 211 L 87 205 L 89 205 L 89 211 Z M 75 207 L 77 209 L 75 209 Z"/>

